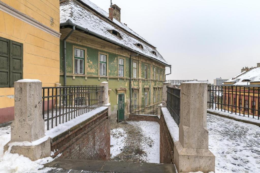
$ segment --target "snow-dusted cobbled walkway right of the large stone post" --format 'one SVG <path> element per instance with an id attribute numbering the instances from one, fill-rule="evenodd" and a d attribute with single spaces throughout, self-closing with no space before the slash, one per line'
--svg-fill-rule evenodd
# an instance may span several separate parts
<path id="1" fill-rule="evenodd" d="M 216 173 L 260 172 L 260 127 L 207 114 L 209 149 Z"/>

